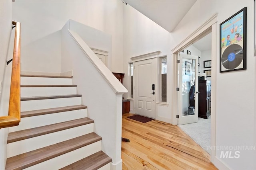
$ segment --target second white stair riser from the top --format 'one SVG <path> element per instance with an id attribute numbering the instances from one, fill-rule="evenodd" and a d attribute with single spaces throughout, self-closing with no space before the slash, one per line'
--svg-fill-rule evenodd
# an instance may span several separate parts
<path id="1" fill-rule="evenodd" d="M 76 94 L 76 87 L 22 87 L 21 97 Z"/>

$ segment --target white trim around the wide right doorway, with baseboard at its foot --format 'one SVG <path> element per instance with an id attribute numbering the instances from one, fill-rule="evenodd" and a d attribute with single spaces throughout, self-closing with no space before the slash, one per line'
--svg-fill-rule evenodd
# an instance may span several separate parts
<path id="1" fill-rule="evenodd" d="M 211 146 L 216 146 L 216 76 L 217 76 L 217 16 L 218 14 L 214 14 L 208 20 L 206 20 L 196 31 L 186 37 L 181 43 L 179 43 L 176 47 L 172 49 L 173 52 L 173 76 L 174 79 L 174 89 L 173 92 L 173 115 L 172 115 L 172 124 L 176 125 L 178 123 L 176 119 L 176 113 L 178 113 L 178 103 L 176 102 L 178 95 L 176 91 L 176 86 L 178 82 L 178 69 L 176 60 L 178 59 L 178 53 L 182 51 L 182 49 L 188 47 L 193 42 L 201 39 L 208 33 L 212 32 L 212 103 L 211 103 Z M 211 150 L 211 162 L 218 168 L 218 169 L 225 169 L 229 170 L 230 168 L 226 166 L 217 156 L 216 150 Z"/>

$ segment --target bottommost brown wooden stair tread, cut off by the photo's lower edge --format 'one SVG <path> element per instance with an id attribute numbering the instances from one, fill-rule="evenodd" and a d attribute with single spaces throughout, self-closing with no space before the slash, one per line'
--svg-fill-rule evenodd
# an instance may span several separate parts
<path id="1" fill-rule="evenodd" d="M 86 158 L 83 158 L 81 160 L 78 160 L 77 162 L 74 162 L 73 164 L 70 164 L 68 166 L 65 166 L 64 168 L 61 168 L 60 170 L 97 170 L 100 167 L 108 164 L 111 162 L 112 159 L 106 155 L 104 152 L 99 151 L 95 154 L 92 154 Z"/>

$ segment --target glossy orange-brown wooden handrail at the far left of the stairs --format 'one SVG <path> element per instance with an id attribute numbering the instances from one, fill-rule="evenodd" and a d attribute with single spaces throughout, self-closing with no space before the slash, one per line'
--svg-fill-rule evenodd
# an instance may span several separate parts
<path id="1" fill-rule="evenodd" d="M 20 23 L 16 25 L 12 61 L 12 77 L 10 86 L 10 100 L 8 116 L 0 117 L 0 128 L 17 126 L 20 123 Z"/>

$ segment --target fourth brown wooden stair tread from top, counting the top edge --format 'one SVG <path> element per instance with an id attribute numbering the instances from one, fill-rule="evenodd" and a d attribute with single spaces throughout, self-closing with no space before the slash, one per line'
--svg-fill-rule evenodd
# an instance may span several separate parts
<path id="1" fill-rule="evenodd" d="M 20 112 L 20 117 L 45 115 L 45 114 L 59 113 L 59 112 L 79 110 L 79 109 L 87 109 L 87 106 L 75 105 L 75 106 L 55 107 L 55 108 L 50 108 L 50 109 L 22 111 L 22 112 Z"/>

